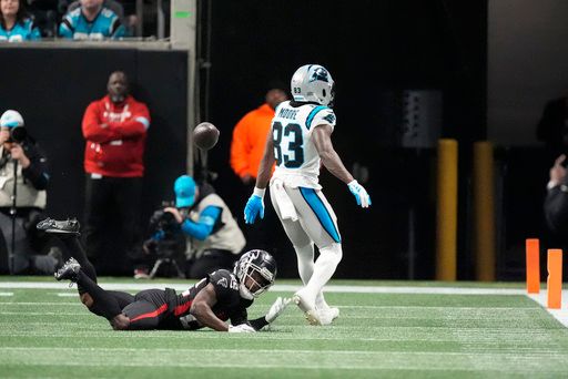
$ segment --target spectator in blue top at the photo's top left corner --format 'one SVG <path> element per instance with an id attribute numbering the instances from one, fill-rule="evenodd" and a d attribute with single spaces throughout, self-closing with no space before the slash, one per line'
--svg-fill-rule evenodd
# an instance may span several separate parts
<path id="1" fill-rule="evenodd" d="M 41 40 L 39 29 L 20 0 L 0 0 L 0 42 Z"/>

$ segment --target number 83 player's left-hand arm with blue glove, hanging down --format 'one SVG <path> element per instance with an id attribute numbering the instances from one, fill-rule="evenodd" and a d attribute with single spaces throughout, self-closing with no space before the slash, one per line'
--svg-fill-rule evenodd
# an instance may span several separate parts
<path id="1" fill-rule="evenodd" d="M 272 140 L 272 130 L 266 136 L 266 144 L 264 146 L 264 155 L 258 166 L 256 175 L 256 185 L 254 192 L 248 197 L 244 207 L 244 221 L 246 224 L 253 224 L 258 215 L 264 218 L 264 193 L 271 178 L 272 166 L 274 165 L 274 142 Z"/>

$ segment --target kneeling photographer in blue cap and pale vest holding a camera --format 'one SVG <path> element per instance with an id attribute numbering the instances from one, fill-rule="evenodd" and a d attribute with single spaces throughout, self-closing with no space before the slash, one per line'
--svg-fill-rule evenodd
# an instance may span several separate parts
<path id="1" fill-rule="evenodd" d="M 168 239 L 172 246 L 179 246 L 171 236 L 174 228 L 164 227 L 170 223 L 165 215 L 172 215 L 186 239 L 186 277 L 202 278 L 220 268 L 232 270 L 246 242 L 225 202 L 213 186 L 196 185 L 189 175 L 175 180 L 174 192 L 175 207 L 163 209 L 164 217 L 159 217 L 163 226 L 144 244 L 146 248 Z"/>

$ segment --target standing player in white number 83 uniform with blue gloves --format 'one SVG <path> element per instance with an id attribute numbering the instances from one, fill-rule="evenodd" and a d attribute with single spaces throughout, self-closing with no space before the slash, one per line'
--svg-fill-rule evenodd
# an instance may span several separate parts
<path id="1" fill-rule="evenodd" d="M 271 186 L 271 199 L 297 256 L 304 287 L 294 294 L 294 303 L 312 325 L 328 325 L 338 315 L 329 307 L 322 289 L 342 259 L 342 238 L 337 217 L 318 183 L 323 164 L 347 184 L 357 204 L 366 208 L 371 198 L 353 178 L 335 152 L 331 135 L 335 127 L 332 110 L 334 81 L 320 64 L 296 70 L 291 81 L 293 101 L 276 107 L 272 130 L 266 139 L 256 187 L 244 209 L 247 224 L 264 217 L 264 193 Z M 271 178 L 272 165 L 276 170 Z M 314 244 L 320 256 L 314 262 Z"/>

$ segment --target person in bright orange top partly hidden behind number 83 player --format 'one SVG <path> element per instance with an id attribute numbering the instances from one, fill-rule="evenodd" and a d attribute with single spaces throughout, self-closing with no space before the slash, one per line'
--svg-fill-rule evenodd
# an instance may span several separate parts
<path id="1" fill-rule="evenodd" d="M 271 129 L 272 117 L 276 106 L 288 99 L 284 84 L 280 81 L 270 83 L 268 91 L 264 96 L 264 103 L 246 113 L 235 125 L 233 130 L 233 139 L 231 141 L 231 167 L 240 177 L 244 185 L 246 194 L 251 193 L 256 182 L 256 173 L 261 164 L 261 158 L 266 144 L 266 135 Z M 274 167 L 272 168 L 274 170 Z M 248 248 L 266 248 L 272 252 L 275 246 L 267 246 L 274 238 L 271 238 L 273 229 L 280 227 L 275 225 L 274 217 L 268 216 L 265 223 L 246 225 L 245 233 L 248 242 Z"/>

